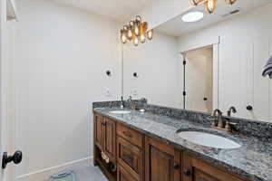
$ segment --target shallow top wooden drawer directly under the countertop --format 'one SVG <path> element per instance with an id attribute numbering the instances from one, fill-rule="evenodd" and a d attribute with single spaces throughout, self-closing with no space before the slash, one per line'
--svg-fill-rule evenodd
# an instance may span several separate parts
<path id="1" fill-rule="evenodd" d="M 142 134 L 136 130 L 129 129 L 121 124 L 117 125 L 117 134 L 132 144 L 142 148 Z"/>

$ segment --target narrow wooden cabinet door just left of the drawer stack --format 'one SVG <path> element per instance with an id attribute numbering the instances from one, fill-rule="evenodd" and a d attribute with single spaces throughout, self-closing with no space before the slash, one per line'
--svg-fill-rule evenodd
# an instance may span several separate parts
<path id="1" fill-rule="evenodd" d="M 111 161 L 116 160 L 116 125 L 112 119 L 105 118 L 105 144 L 104 152 L 110 157 Z"/>

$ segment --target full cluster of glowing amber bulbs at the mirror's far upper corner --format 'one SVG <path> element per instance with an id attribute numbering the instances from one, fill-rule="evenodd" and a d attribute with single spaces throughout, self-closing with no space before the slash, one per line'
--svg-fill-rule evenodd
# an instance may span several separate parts
<path id="1" fill-rule="evenodd" d="M 140 15 L 121 29 L 121 43 L 132 41 L 135 46 L 138 46 L 140 42 L 145 43 L 146 39 L 151 40 L 152 38 L 153 30 L 148 30 L 147 22 L 143 22 Z"/>

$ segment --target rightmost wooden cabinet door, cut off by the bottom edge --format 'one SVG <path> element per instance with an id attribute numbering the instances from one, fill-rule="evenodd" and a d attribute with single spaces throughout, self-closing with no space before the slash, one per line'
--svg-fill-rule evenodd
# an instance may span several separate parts
<path id="1" fill-rule="evenodd" d="M 183 154 L 183 181 L 243 181 L 218 167 Z"/>

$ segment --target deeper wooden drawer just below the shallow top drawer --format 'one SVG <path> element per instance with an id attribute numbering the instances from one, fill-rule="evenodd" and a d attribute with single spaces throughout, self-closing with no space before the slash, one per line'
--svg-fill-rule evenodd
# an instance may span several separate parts
<path id="1" fill-rule="evenodd" d="M 127 140 L 118 137 L 117 138 L 117 160 L 121 167 L 124 167 L 131 173 L 131 176 L 142 180 L 142 151 L 140 148 L 135 147 Z"/>

